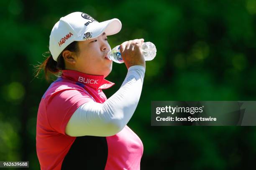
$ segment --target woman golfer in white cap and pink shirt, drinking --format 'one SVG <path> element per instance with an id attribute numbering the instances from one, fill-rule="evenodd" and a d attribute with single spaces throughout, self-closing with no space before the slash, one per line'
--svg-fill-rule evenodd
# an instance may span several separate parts
<path id="1" fill-rule="evenodd" d="M 59 74 L 41 98 L 36 125 L 36 152 L 41 170 L 139 170 L 140 138 L 126 125 L 141 95 L 145 74 L 143 39 L 120 46 L 128 69 L 120 89 L 108 100 L 102 89 L 112 61 L 107 35 L 120 31 L 118 19 L 99 23 L 90 15 L 71 13 L 54 25 L 44 69 Z"/>

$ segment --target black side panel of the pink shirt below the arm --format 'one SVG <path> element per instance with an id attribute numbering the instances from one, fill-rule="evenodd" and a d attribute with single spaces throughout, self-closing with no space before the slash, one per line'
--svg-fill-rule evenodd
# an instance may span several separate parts
<path id="1" fill-rule="evenodd" d="M 106 137 L 77 137 L 63 160 L 61 170 L 104 170 L 108 159 Z"/>

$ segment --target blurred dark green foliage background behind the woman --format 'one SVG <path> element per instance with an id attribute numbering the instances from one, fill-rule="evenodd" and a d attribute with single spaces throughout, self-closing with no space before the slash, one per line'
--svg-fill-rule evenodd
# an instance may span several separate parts
<path id="1" fill-rule="evenodd" d="M 255 0 L 1 0 L 0 160 L 39 169 L 36 117 L 50 82 L 33 79 L 54 24 L 81 11 L 99 22 L 118 18 L 111 47 L 144 38 L 156 45 L 146 62 L 141 99 L 128 126 L 144 145 L 141 169 L 225 170 L 255 165 L 255 127 L 151 126 L 153 100 L 256 100 Z M 116 85 L 127 69 L 113 63 Z M 55 78 L 56 79 L 56 78 Z M 254 168 L 253 168 L 254 169 Z"/>

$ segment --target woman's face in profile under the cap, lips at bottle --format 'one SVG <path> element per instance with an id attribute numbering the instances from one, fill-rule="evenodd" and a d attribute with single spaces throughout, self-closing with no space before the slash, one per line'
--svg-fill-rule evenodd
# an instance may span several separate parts
<path id="1" fill-rule="evenodd" d="M 76 70 L 91 75 L 104 75 L 107 77 L 112 70 L 112 60 L 107 57 L 110 51 L 105 32 L 102 35 L 78 42 L 75 67 Z"/>

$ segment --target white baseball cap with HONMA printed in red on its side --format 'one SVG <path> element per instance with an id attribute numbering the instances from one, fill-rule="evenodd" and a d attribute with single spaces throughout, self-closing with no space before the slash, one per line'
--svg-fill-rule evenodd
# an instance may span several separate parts
<path id="1" fill-rule="evenodd" d="M 113 35 L 121 28 L 122 24 L 117 18 L 99 23 L 86 13 L 74 12 L 60 18 L 52 28 L 49 50 L 57 61 L 59 54 L 73 41 L 90 40 L 103 32 Z"/>

